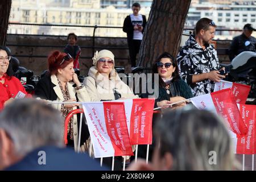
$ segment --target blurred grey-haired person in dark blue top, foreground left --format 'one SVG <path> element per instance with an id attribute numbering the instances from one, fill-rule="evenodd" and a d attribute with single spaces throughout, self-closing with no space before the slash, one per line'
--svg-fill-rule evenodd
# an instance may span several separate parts
<path id="1" fill-rule="evenodd" d="M 88 154 L 64 148 L 64 121 L 42 101 L 15 100 L 0 113 L 0 169 L 104 170 Z"/>

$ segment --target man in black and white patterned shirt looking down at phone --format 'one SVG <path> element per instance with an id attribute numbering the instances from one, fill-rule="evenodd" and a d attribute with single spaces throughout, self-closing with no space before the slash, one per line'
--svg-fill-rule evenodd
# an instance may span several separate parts
<path id="1" fill-rule="evenodd" d="M 214 83 L 225 78 L 220 75 L 216 49 L 210 44 L 215 28 L 211 19 L 201 18 L 196 23 L 195 35 L 189 36 L 177 55 L 180 77 L 191 87 L 194 96 L 213 92 Z"/>

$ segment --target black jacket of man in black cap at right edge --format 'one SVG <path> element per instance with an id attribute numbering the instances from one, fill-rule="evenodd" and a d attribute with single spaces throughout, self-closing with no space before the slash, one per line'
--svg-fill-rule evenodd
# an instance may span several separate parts
<path id="1" fill-rule="evenodd" d="M 249 41 L 250 44 L 245 46 L 245 42 Z M 256 46 L 256 39 L 253 36 L 250 36 L 250 38 L 247 38 L 245 34 L 238 35 L 234 37 L 232 40 L 232 43 L 229 47 L 229 59 L 232 61 L 234 57 L 239 55 L 243 51 L 253 51 L 255 52 L 255 46 Z"/>

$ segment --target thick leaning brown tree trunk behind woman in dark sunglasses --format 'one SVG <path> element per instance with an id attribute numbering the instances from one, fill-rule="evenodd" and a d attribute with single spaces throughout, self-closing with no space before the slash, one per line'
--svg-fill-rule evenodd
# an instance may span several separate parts
<path id="1" fill-rule="evenodd" d="M 176 57 L 191 0 L 154 0 L 144 30 L 138 66 L 151 68 L 163 52 Z"/>

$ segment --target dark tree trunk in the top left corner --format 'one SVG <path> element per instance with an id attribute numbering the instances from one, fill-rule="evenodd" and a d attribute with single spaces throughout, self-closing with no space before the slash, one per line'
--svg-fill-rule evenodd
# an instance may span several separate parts
<path id="1" fill-rule="evenodd" d="M 11 0 L 0 1 L 0 45 L 5 46 L 9 16 L 11 12 Z"/>

